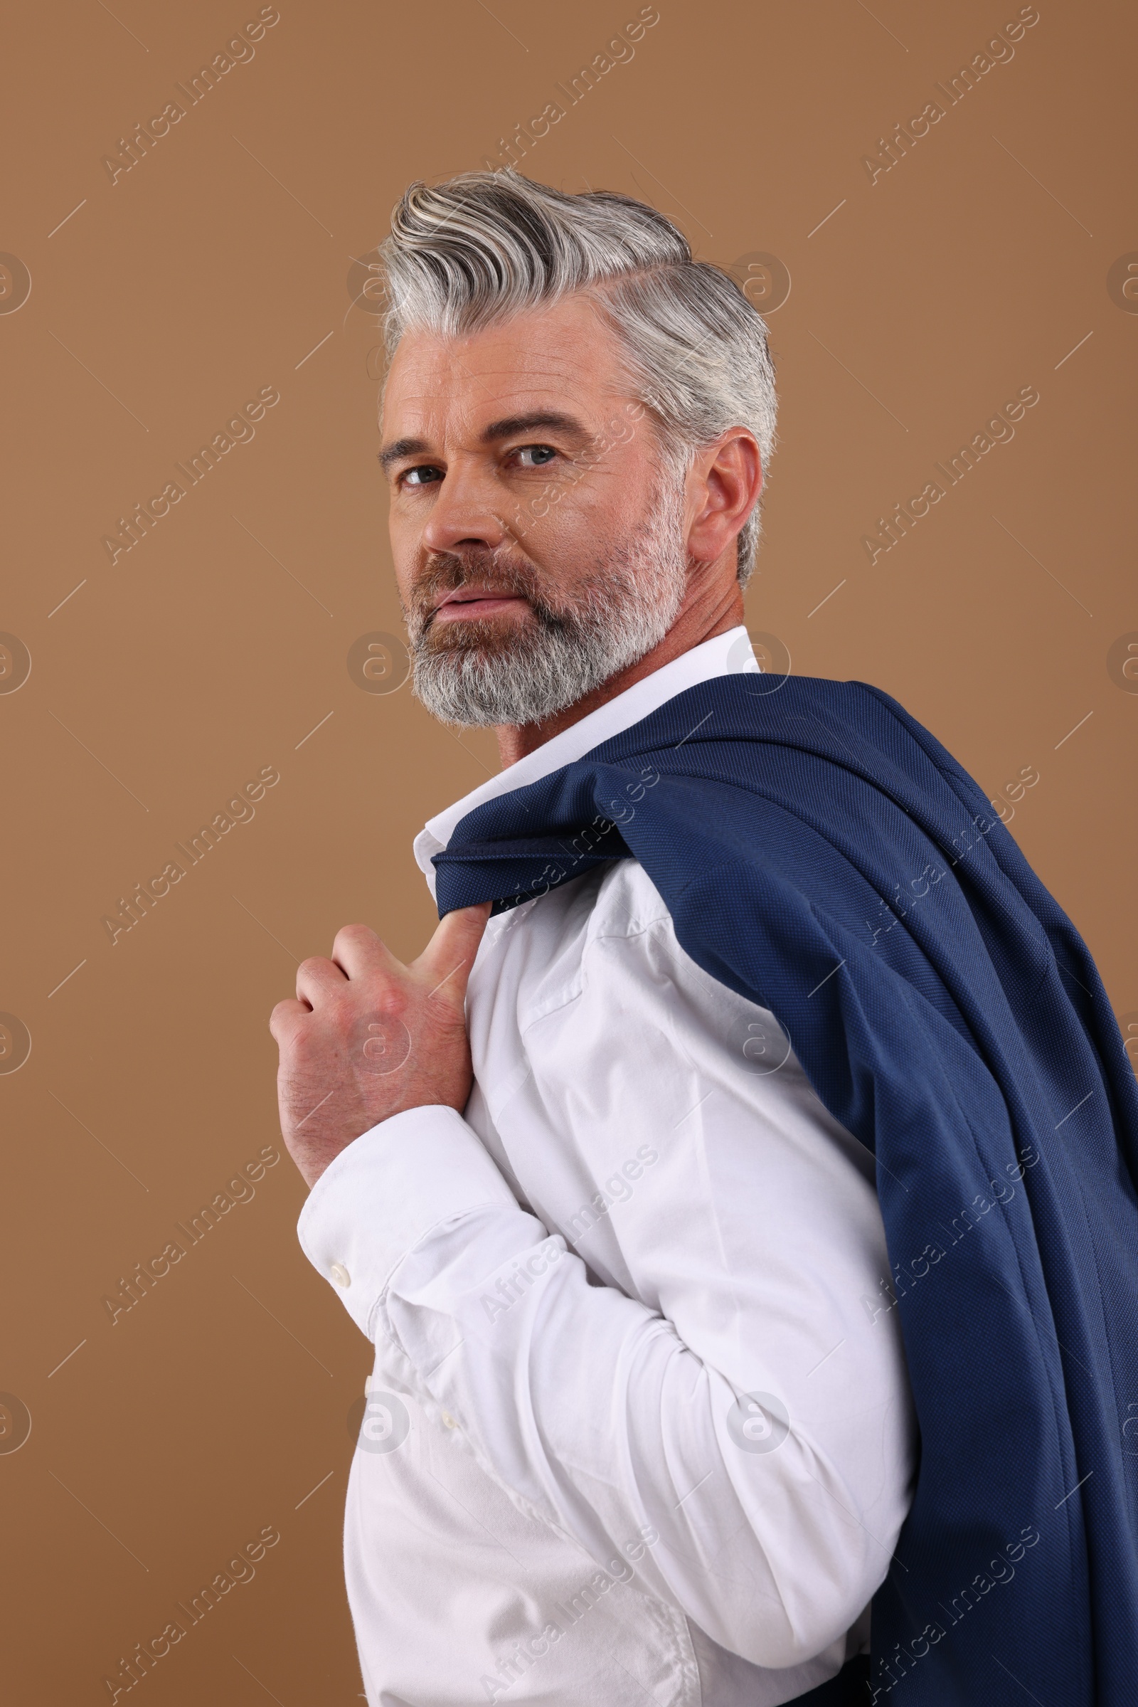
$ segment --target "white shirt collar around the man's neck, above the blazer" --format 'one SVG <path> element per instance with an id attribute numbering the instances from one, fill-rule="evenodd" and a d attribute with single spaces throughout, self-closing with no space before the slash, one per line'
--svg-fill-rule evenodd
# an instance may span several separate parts
<path id="1" fill-rule="evenodd" d="M 604 741 L 611 741 L 613 736 L 619 736 L 624 729 L 631 729 L 633 724 L 650 717 L 652 712 L 674 700 L 677 693 L 684 693 L 686 688 L 694 688 L 701 681 L 711 681 L 715 676 L 730 676 L 737 671 L 756 671 L 758 667 L 759 664 L 751 649 L 747 630 L 742 623 L 739 628 L 729 628 L 727 633 L 715 635 L 715 638 L 705 640 L 689 652 L 681 652 L 671 664 L 664 664 L 642 681 L 635 681 L 631 688 L 624 688 L 623 693 L 607 700 L 606 705 L 599 705 L 595 712 L 589 712 L 580 722 L 570 724 L 560 736 L 553 736 L 553 739 L 527 753 L 515 765 L 508 765 L 496 777 L 490 777 L 478 789 L 471 790 L 471 794 L 462 795 L 461 801 L 456 801 L 444 813 L 437 813 L 415 838 L 415 859 L 427 877 L 430 893 L 435 893 L 432 855 L 442 854 L 454 835 L 456 824 L 467 813 L 473 813 L 476 806 L 483 806 L 485 801 L 493 801 L 500 794 L 512 794 L 514 789 L 524 789 L 531 782 L 539 782 L 563 765 L 572 765 L 575 760 L 584 758 L 585 753 L 592 753 Z"/>

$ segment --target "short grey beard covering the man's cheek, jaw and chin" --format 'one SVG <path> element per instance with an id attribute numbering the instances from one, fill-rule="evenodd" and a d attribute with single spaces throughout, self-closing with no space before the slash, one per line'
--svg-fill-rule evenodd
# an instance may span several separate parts
<path id="1" fill-rule="evenodd" d="M 444 724 L 539 724 L 636 664 L 669 632 L 684 599 L 682 483 L 667 481 L 648 517 L 553 609 L 531 601 L 517 635 L 469 633 L 433 647 L 420 611 L 408 613 L 413 691 Z M 471 630 L 481 625 L 471 625 Z"/>

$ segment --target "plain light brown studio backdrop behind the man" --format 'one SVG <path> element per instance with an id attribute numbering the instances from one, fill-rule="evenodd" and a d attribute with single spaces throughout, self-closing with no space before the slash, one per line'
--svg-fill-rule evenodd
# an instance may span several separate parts
<path id="1" fill-rule="evenodd" d="M 0 628 L 32 655 L 0 695 L 0 1009 L 32 1036 L 0 1075 L 0 1389 L 32 1417 L 0 1454 L 12 1700 L 107 1700 L 119 1656 L 263 1524 L 282 1540 L 256 1581 L 140 1692 L 360 1693 L 340 1519 L 370 1359 L 297 1246 L 288 1157 L 114 1326 L 101 1299 L 278 1137 L 266 1017 L 293 959 L 357 918 L 416 953 L 409 838 L 495 768 L 486 736 L 346 669 L 358 635 L 399 630 L 351 258 L 409 179 L 481 166 L 636 10 L 282 0 L 256 58 L 114 184 L 101 157 L 256 5 L 9 14 L 0 249 L 32 280 L 0 314 Z M 1138 314 L 1107 270 L 1138 249 L 1133 9 L 1039 0 L 894 171 L 860 164 L 1017 10 L 660 0 L 524 169 L 790 270 L 749 621 L 795 671 L 897 695 L 990 794 L 1039 770 L 1012 833 L 1129 1014 L 1138 695 L 1107 652 L 1138 630 Z M 101 536 L 261 386 L 282 401 L 256 439 L 111 567 Z M 860 536 L 1020 386 L 1041 401 L 1015 440 L 870 567 Z M 282 780 L 256 819 L 113 947 L 101 915 L 261 765 Z"/>

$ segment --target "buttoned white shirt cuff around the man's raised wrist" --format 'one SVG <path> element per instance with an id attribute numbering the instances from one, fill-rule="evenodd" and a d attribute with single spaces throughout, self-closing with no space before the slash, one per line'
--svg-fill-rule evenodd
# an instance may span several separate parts
<path id="1" fill-rule="evenodd" d="M 457 1110 L 433 1103 L 353 1139 L 312 1186 L 297 1236 L 374 1340 L 375 1306 L 408 1251 L 440 1222 L 486 1207 L 519 1203 Z"/>

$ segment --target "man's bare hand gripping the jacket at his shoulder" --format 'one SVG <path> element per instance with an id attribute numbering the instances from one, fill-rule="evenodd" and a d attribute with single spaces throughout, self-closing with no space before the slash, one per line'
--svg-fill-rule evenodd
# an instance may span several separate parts
<path id="1" fill-rule="evenodd" d="M 447 913 L 409 966 L 367 925 L 345 925 L 331 959 L 300 964 L 297 1000 L 276 1004 L 270 1031 L 280 1130 L 309 1186 L 389 1115 L 466 1108 L 466 982 L 488 917 L 490 901 Z"/>

